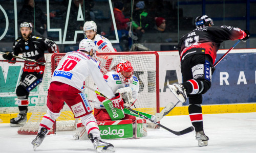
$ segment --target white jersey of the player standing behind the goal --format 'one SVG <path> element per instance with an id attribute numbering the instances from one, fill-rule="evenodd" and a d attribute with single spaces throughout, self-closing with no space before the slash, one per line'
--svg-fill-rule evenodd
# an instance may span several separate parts
<path id="1" fill-rule="evenodd" d="M 116 52 L 108 38 L 96 34 L 93 41 L 97 52 Z"/>

